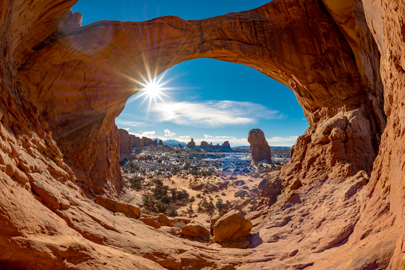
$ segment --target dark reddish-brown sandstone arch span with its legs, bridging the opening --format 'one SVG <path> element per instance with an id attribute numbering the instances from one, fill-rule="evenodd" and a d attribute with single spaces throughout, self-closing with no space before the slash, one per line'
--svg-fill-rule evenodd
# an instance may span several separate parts
<path id="1" fill-rule="evenodd" d="M 111 189 L 119 190 L 120 183 L 116 155 L 109 149 L 116 132 L 110 130 L 125 101 L 136 93 L 134 86 L 142 87 L 139 81 L 148 75 L 201 57 L 251 66 L 289 86 L 313 129 L 338 112 L 361 107 L 357 117 L 372 120 L 374 134 L 362 134 L 367 137 L 364 145 L 356 147 L 367 153 L 355 157 L 361 160 L 353 170 L 371 172 L 378 148 L 376 126 L 380 124 L 381 134 L 383 123 L 374 119 L 370 100 L 377 100 L 381 89 L 370 88 L 362 78 L 349 43 L 318 1 L 272 1 L 252 11 L 201 21 L 163 17 L 142 23 L 96 22 L 57 33 L 19 67 L 18 76 L 61 141 L 78 181 L 96 193 L 114 193 Z M 375 103 L 380 116 L 381 104 Z M 329 152 L 340 151 L 337 159 L 353 163 L 343 145 L 334 147 Z M 100 178 L 106 179 L 103 188 L 97 187 Z"/>

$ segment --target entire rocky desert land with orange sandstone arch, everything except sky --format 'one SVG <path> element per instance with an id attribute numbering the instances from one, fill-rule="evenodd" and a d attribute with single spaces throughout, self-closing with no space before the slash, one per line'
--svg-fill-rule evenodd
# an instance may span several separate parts
<path id="1" fill-rule="evenodd" d="M 0 1 L 1 269 L 405 269 L 403 1 L 85 26 L 75 3 Z M 150 67 L 197 58 L 288 86 L 291 151 L 118 130 Z"/>

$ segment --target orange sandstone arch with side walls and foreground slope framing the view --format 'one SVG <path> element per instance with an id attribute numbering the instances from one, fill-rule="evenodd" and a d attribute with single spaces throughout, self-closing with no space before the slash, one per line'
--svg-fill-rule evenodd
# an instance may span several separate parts
<path id="1" fill-rule="evenodd" d="M 358 0 L 340 6 L 328 0 L 273 0 L 205 20 L 168 16 L 70 27 L 73 16 L 65 11 L 73 3 L 65 2 L 43 6 L 48 9 L 44 18 L 24 26 L 18 15 L 29 9 L 17 4 L 2 3 L 0 11 L 5 18 L 0 30 L 13 33 L 1 43 L 2 52 L 8 52 L 2 55 L 7 71 L 2 87 L 4 95 L 15 97 L 12 104 L 10 97 L 2 98 L 2 111 L 17 112 L 0 117 L 0 135 L 12 149 L 2 144 L 2 159 L 8 156 L 15 167 L 5 165 L 0 171 L 0 205 L 6 209 L 0 211 L 0 224 L 9 228 L 0 240 L 12 247 L 0 254 L 1 261 L 35 266 L 40 257 L 49 267 L 106 269 L 114 263 L 151 269 L 222 264 L 241 265 L 238 269 L 395 269 L 403 264 L 397 240 L 404 235 L 403 194 L 398 191 L 403 163 L 382 157 L 400 156 L 402 149 L 397 130 L 401 107 L 395 102 L 402 97 L 403 74 L 386 52 L 390 48 L 400 55 L 397 43 L 403 40 L 382 31 L 401 13 Z M 388 19 L 367 17 L 376 13 Z M 397 43 L 381 41 L 390 38 Z M 232 253 L 186 243 L 112 215 L 90 200 L 128 195 L 114 119 L 134 89 L 196 58 L 244 64 L 287 85 L 310 123 L 292 149 L 291 162 L 277 176 L 282 183 L 277 202 L 263 200 L 249 216 L 252 249 Z M 385 65 L 381 72 L 380 58 Z M 399 83 L 391 81 L 392 70 Z M 14 150 L 17 146 L 20 152 Z M 47 169 L 41 169 L 42 163 Z M 22 198 L 48 219 L 28 214 Z M 27 225 L 30 220 L 35 222 Z M 28 245 L 35 252 L 17 262 L 11 254 L 23 253 Z"/>

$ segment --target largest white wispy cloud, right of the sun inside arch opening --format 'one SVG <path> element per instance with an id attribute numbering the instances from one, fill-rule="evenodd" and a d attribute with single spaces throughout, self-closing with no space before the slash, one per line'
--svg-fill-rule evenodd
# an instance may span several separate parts
<path id="1" fill-rule="evenodd" d="M 166 102 L 155 104 L 151 111 L 158 114 L 160 121 L 207 127 L 251 124 L 259 118 L 283 117 L 278 111 L 260 104 L 229 100 L 201 103 Z"/>

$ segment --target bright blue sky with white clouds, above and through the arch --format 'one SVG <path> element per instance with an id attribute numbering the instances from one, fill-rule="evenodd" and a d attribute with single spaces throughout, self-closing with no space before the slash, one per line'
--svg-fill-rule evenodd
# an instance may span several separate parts
<path id="1" fill-rule="evenodd" d="M 144 21 L 173 15 L 204 19 L 254 9 L 266 0 L 252 1 L 88 1 L 80 0 L 73 12 L 83 14 L 86 25 L 99 20 Z M 272 146 L 292 146 L 308 127 L 294 93 L 259 71 L 213 59 L 180 63 L 161 82 L 168 88 L 149 105 L 147 95 L 134 95 L 115 119 L 119 128 L 149 138 L 197 143 L 229 141 L 249 145 L 248 132 L 263 130 Z M 158 77 L 158 78 L 159 78 Z M 145 99 L 145 101 L 144 101 Z"/>

